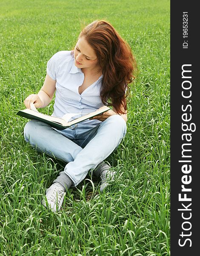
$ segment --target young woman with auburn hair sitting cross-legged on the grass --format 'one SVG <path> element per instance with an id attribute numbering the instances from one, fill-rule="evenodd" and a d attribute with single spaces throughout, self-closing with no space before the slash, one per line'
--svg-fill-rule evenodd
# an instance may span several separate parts
<path id="1" fill-rule="evenodd" d="M 81 116 L 112 106 L 112 110 L 62 131 L 37 120 L 26 124 L 26 142 L 67 163 L 42 202 L 54 212 L 60 210 L 66 190 L 77 186 L 89 171 L 100 177 L 100 192 L 114 178 L 115 172 L 103 160 L 126 134 L 125 94 L 134 79 L 134 67 L 129 45 L 109 22 L 95 20 L 80 32 L 73 51 L 60 51 L 50 58 L 43 87 L 25 99 L 26 108 L 31 103 L 44 108 L 56 92 L 52 116 L 57 117 L 66 113 Z"/>

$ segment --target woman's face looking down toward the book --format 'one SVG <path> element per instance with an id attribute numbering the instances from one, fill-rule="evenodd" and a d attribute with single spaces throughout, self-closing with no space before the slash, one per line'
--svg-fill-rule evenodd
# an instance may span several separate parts
<path id="1" fill-rule="evenodd" d="M 74 49 L 74 58 L 75 66 L 78 68 L 94 70 L 99 67 L 94 49 L 92 49 L 83 36 L 77 41 Z"/>

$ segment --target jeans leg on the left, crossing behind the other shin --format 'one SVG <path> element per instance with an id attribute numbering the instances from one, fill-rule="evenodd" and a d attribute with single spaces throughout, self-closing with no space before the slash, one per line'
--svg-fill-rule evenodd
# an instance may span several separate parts
<path id="1" fill-rule="evenodd" d="M 69 131 L 71 132 L 71 131 Z M 31 120 L 24 127 L 24 137 L 37 151 L 66 163 L 74 161 L 82 148 L 43 122 Z"/>

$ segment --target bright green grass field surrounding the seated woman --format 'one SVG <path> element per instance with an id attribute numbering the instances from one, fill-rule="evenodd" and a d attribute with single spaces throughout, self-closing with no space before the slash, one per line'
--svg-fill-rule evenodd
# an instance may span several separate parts
<path id="1" fill-rule="evenodd" d="M 0 1 L 0 255 L 170 255 L 169 9 L 169 0 Z M 100 194 L 88 175 L 53 213 L 41 200 L 64 163 L 25 143 L 16 113 L 49 58 L 96 19 L 117 29 L 138 66 L 126 137 L 106 159 L 117 180 Z"/>

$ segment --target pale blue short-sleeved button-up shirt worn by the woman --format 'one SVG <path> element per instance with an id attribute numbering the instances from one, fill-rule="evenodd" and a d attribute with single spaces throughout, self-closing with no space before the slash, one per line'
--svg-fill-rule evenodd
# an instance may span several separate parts
<path id="1" fill-rule="evenodd" d="M 100 88 L 103 75 L 87 87 L 83 93 L 78 92 L 83 84 L 84 74 L 75 66 L 71 51 L 55 53 L 47 63 L 47 74 L 56 80 L 54 112 L 52 116 L 62 117 L 66 113 L 77 113 L 77 117 L 96 111 L 103 107 Z M 86 120 L 82 124 L 97 125 L 99 120 Z"/>

